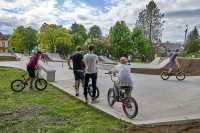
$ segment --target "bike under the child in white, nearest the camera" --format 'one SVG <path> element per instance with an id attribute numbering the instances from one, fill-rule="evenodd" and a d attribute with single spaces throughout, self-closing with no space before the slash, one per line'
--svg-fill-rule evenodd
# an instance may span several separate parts
<path id="1" fill-rule="evenodd" d="M 132 96 L 128 95 L 126 91 L 130 91 L 129 87 L 119 87 L 118 86 L 118 80 L 114 80 L 112 73 L 105 73 L 110 75 L 110 78 L 113 82 L 113 87 L 109 88 L 108 90 L 108 95 L 107 95 L 107 100 L 108 104 L 112 107 L 115 102 L 121 102 L 122 103 L 122 108 L 126 116 L 130 119 L 135 118 L 138 114 L 138 104 Z"/>

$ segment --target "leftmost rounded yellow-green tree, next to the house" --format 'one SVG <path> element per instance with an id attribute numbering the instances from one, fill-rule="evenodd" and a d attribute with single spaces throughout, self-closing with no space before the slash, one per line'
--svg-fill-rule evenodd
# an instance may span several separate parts
<path id="1" fill-rule="evenodd" d="M 16 51 L 29 51 L 37 45 L 37 31 L 31 27 L 19 26 L 9 37 L 9 44 Z"/>

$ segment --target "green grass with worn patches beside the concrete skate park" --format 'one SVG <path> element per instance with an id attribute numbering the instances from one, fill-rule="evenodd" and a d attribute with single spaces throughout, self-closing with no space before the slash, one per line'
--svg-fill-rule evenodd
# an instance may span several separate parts
<path id="1" fill-rule="evenodd" d="M 0 67 L 0 133 L 106 133 L 129 127 L 52 85 L 43 92 L 12 92 L 11 81 L 23 74 Z"/>

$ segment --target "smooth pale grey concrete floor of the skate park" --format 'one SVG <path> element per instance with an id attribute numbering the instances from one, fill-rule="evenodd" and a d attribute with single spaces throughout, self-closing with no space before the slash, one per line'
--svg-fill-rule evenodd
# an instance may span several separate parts
<path id="1" fill-rule="evenodd" d="M 25 63 L 0 62 L 0 66 L 24 67 Z M 53 84 L 64 91 L 74 95 L 74 77 L 66 64 L 62 67 L 59 63 L 49 63 L 56 69 L 56 81 Z M 117 103 L 113 108 L 107 104 L 107 91 L 112 87 L 112 82 L 99 70 L 98 87 L 100 89 L 100 103 L 93 106 L 103 110 L 117 118 L 134 124 L 160 123 L 177 120 L 200 118 L 200 77 L 186 77 L 185 81 L 177 81 L 172 77 L 168 81 L 161 80 L 156 75 L 132 74 L 135 80 L 135 89 L 132 96 L 139 104 L 138 116 L 130 120 L 124 115 L 121 104 Z M 81 96 L 83 89 L 81 88 Z"/>

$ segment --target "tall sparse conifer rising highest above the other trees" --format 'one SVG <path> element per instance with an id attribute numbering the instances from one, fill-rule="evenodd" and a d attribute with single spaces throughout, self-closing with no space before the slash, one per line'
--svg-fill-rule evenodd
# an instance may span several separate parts
<path id="1" fill-rule="evenodd" d="M 151 0 L 149 4 L 146 5 L 146 9 L 139 13 L 136 25 L 142 28 L 146 38 L 151 42 L 156 42 L 162 35 L 164 24 L 164 21 L 162 21 L 163 17 L 164 14 L 160 13 L 160 9 L 156 3 Z"/>

